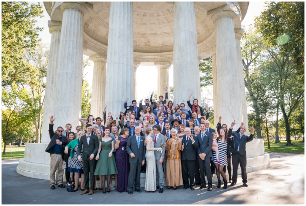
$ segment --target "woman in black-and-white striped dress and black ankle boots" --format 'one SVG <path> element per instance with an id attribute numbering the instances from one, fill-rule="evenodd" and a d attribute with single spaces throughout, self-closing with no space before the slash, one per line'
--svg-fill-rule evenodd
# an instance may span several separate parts
<path id="1" fill-rule="evenodd" d="M 226 136 L 226 133 L 223 129 L 219 130 L 220 136 L 217 138 L 218 142 L 218 151 L 219 151 L 219 160 L 220 162 L 217 162 L 216 158 L 216 152 L 212 153 L 212 161 L 215 163 L 216 166 L 216 174 L 218 178 L 218 188 L 221 187 L 221 177 L 223 178 L 224 186 L 223 189 L 227 188 L 227 180 L 225 172 L 223 171 L 223 167 L 227 165 L 227 142 L 230 141 L 230 147 L 235 148 L 234 141 L 232 141 L 231 138 L 228 138 Z"/>

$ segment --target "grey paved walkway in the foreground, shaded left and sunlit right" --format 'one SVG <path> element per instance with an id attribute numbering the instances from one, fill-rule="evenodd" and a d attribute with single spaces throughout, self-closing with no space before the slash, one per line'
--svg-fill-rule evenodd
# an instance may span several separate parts
<path id="1" fill-rule="evenodd" d="M 66 188 L 49 189 L 49 181 L 28 178 L 16 173 L 18 160 L 2 160 L 2 204 L 304 204 L 304 155 L 270 154 L 272 165 L 268 169 L 248 174 L 248 187 L 241 176 L 237 185 L 228 189 L 207 188 L 194 191 L 135 192 L 80 195 L 68 193 Z"/>

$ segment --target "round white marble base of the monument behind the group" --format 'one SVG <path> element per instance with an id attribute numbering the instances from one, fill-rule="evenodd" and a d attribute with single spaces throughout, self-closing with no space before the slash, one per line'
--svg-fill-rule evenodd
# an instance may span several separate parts
<path id="1" fill-rule="evenodd" d="M 252 143 L 252 144 L 250 144 Z M 263 140 L 254 139 L 247 144 L 247 173 L 263 170 L 271 166 L 270 155 L 263 150 Z M 47 143 L 39 144 L 25 144 L 24 158 L 19 160 L 17 166 L 17 173 L 26 177 L 37 178 L 37 179 L 50 179 L 50 154 L 45 152 Z M 257 148 L 257 151 L 254 151 Z M 255 156 L 258 155 L 258 156 Z M 232 165 L 233 168 L 233 165 Z M 232 171 L 233 174 L 233 171 Z M 238 175 L 241 174 L 240 166 L 238 167 Z M 145 184 L 145 173 L 140 175 L 140 187 L 144 187 Z M 228 178 L 228 174 L 226 174 Z M 205 177 L 206 178 L 206 177 Z M 212 178 L 213 183 L 218 183 L 217 175 Z M 64 182 L 65 182 L 64 174 Z M 99 185 L 97 181 L 97 187 Z M 206 180 L 207 182 L 207 180 Z M 113 185 L 114 185 L 113 179 Z M 164 185 L 166 186 L 166 178 L 164 178 Z"/>

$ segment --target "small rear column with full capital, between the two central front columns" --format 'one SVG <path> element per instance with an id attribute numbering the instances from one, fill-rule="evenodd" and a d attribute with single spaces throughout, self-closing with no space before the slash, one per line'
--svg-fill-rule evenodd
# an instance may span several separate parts
<path id="1" fill-rule="evenodd" d="M 170 62 L 155 62 L 154 65 L 157 68 L 157 98 L 159 96 L 165 97 L 165 87 L 168 87 L 169 91 L 169 67 Z"/>

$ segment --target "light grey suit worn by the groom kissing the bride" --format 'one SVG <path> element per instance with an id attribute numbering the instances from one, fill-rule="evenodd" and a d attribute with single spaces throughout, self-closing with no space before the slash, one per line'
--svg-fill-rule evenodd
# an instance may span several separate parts
<path id="1" fill-rule="evenodd" d="M 152 137 L 153 142 L 155 141 L 155 135 Z M 166 137 L 159 133 L 159 136 L 156 138 L 156 143 L 154 144 L 154 148 L 160 148 L 161 143 L 166 144 Z M 154 151 L 155 162 L 156 162 L 156 186 L 160 186 L 160 188 L 164 187 L 164 172 L 163 172 L 163 163 L 159 163 L 159 159 L 165 156 L 166 146 L 162 149 L 162 153 L 158 151 Z"/>

